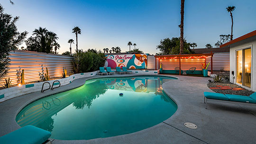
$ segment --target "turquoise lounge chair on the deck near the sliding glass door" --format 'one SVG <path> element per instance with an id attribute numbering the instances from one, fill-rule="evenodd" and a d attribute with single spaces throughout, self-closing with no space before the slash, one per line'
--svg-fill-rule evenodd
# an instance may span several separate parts
<path id="1" fill-rule="evenodd" d="M 204 94 L 204 103 L 206 103 L 206 106 L 207 106 L 207 99 L 256 104 L 256 92 L 251 94 L 250 96 L 230 95 L 230 94 L 222 94 L 222 93 L 214 93 L 214 92 L 204 92 L 203 94 Z"/>

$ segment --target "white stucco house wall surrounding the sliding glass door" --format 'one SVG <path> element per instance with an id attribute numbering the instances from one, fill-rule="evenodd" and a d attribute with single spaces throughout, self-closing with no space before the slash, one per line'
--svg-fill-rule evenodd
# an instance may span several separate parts
<path id="1" fill-rule="evenodd" d="M 251 62 L 251 88 L 256 91 L 256 36 L 249 37 L 242 41 L 230 45 L 230 82 L 233 82 L 232 71 L 234 71 L 234 83 L 237 81 L 237 58 L 236 51 L 241 49 L 251 48 L 252 62 Z"/>

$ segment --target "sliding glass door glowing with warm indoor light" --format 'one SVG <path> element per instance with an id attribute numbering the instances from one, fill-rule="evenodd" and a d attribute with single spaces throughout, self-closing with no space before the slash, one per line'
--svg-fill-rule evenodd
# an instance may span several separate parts
<path id="1" fill-rule="evenodd" d="M 251 48 L 237 51 L 237 83 L 251 87 Z"/>

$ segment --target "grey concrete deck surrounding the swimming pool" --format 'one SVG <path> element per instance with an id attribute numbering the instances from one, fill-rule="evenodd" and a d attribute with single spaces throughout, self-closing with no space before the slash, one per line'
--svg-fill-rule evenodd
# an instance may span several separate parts
<path id="1" fill-rule="evenodd" d="M 26 94 L 0 103 L 0 136 L 18 128 L 15 117 L 19 110 L 35 99 L 82 86 L 85 80 L 101 77 L 133 75 L 92 76 L 74 80 L 55 90 Z M 155 76 L 155 75 L 154 75 Z M 160 76 L 160 75 L 159 75 Z M 167 76 L 167 75 L 165 75 Z M 178 80 L 167 81 L 163 90 L 178 105 L 176 113 L 164 122 L 150 128 L 127 134 L 92 140 L 53 140 L 53 144 L 255 144 L 256 105 L 245 106 L 225 102 L 209 102 L 205 109 L 203 92 L 210 78 L 168 75 Z M 197 125 L 197 129 L 184 126 L 185 122 Z"/>

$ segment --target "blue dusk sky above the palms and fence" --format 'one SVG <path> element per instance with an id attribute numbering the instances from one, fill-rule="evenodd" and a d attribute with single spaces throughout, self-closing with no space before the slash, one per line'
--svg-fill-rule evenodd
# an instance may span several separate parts
<path id="1" fill-rule="evenodd" d="M 0 0 L 5 12 L 19 16 L 18 31 L 38 27 L 55 32 L 69 51 L 68 39 L 75 40 L 72 28 L 78 26 L 79 49 L 119 46 L 128 51 L 128 41 L 144 53 L 155 54 L 156 45 L 166 37 L 180 35 L 180 0 Z M 231 18 L 226 10 L 236 6 L 234 38 L 256 30 L 256 0 L 185 0 L 184 37 L 198 48 L 214 44 L 219 35 L 230 34 Z M 26 45 L 24 45 L 26 47 Z M 75 50 L 75 45 L 73 52 Z M 132 47 L 133 48 L 133 47 Z"/>

